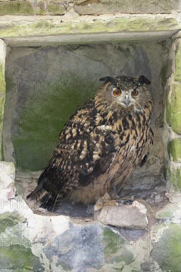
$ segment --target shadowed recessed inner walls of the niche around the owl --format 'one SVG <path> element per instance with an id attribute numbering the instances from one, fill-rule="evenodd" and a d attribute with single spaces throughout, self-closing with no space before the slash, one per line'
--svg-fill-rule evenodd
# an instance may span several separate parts
<path id="1" fill-rule="evenodd" d="M 3 127 L 2 135 L 4 159 L 16 165 L 17 195 L 25 197 L 36 187 L 39 171 L 49 161 L 64 123 L 77 105 L 94 96 L 101 84 L 99 78 L 144 75 L 151 81 L 154 145 L 146 165 L 136 169 L 121 196 L 131 191 L 149 201 L 159 199 L 159 194 L 161 199 L 161 192 L 165 191 L 165 147 L 158 123 L 163 110 L 169 43 L 119 41 L 111 45 L 52 46 L 47 50 L 11 48 L 5 67 L 4 119 L 8 125 Z M 91 207 L 67 204 L 66 211 L 59 209 L 56 213 L 86 217 L 91 215 Z"/>

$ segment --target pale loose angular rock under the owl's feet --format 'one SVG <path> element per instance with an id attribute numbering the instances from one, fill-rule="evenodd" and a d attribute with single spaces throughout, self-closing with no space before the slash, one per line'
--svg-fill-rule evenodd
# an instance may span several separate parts
<path id="1" fill-rule="evenodd" d="M 94 211 L 94 219 L 104 225 L 144 229 L 147 227 L 146 207 L 134 201 L 132 205 L 104 206 L 101 211 Z"/>

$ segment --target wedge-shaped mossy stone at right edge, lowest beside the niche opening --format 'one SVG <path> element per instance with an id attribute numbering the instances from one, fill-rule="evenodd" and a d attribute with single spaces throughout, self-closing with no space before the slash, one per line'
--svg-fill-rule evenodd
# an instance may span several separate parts
<path id="1" fill-rule="evenodd" d="M 174 169 L 169 166 L 167 169 L 167 176 L 170 182 L 173 184 L 176 191 L 181 191 L 181 167 Z"/>

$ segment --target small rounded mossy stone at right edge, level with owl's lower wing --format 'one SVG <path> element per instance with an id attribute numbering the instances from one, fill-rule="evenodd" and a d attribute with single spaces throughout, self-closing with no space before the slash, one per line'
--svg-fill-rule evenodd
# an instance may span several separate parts
<path id="1" fill-rule="evenodd" d="M 167 146 L 169 157 L 172 154 L 173 161 L 181 162 L 181 138 L 172 139 Z"/>

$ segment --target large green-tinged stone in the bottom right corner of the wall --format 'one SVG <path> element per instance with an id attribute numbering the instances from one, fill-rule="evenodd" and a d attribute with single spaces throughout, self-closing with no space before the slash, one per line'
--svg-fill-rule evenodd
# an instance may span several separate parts
<path id="1" fill-rule="evenodd" d="M 181 271 L 181 227 L 171 224 L 165 229 L 150 256 L 164 271 Z"/>

